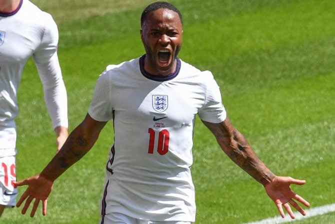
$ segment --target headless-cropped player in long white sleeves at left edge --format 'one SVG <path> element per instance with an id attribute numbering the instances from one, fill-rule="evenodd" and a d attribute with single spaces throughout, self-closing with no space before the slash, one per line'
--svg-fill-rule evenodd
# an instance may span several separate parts
<path id="1" fill-rule="evenodd" d="M 67 138 L 67 98 L 57 58 L 58 30 L 51 16 L 28 0 L 0 1 L 0 215 L 16 204 L 17 88 L 32 56 L 56 133 L 57 150 Z M 33 128 L 33 127 L 31 127 Z"/>

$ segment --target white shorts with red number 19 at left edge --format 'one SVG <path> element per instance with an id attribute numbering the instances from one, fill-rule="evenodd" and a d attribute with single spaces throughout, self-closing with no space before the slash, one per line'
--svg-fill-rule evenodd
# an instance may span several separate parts
<path id="1" fill-rule="evenodd" d="M 16 204 L 17 188 L 13 181 L 16 181 L 15 156 L 0 157 L 0 204 L 6 207 Z"/>

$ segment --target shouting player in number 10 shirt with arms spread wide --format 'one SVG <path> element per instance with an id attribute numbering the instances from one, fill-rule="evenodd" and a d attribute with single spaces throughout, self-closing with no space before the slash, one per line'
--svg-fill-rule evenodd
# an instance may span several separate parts
<path id="1" fill-rule="evenodd" d="M 34 200 L 46 214 L 54 180 L 94 144 L 109 120 L 114 144 L 106 164 L 100 223 L 189 224 L 195 220 L 190 174 L 195 116 L 214 134 L 222 150 L 261 183 L 280 214 L 290 205 L 302 214 L 309 203 L 290 189 L 304 180 L 274 175 L 230 123 L 218 85 L 209 71 L 177 58 L 182 18 L 165 2 L 149 5 L 141 16 L 145 55 L 110 65 L 100 75 L 88 113 L 40 174 L 15 183 L 28 185 L 18 200 L 24 214 Z M 290 204 L 290 205 L 289 205 Z"/>

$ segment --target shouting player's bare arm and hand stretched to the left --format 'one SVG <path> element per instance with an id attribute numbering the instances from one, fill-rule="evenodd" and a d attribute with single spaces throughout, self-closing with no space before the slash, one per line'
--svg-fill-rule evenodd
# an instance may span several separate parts
<path id="1" fill-rule="evenodd" d="M 26 212 L 33 199 L 35 200 L 30 216 L 34 216 L 39 201 L 42 201 L 42 214 L 46 214 L 47 197 L 51 192 L 53 181 L 89 151 L 105 124 L 106 122 L 96 121 L 87 114 L 40 174 L 14 182 L 16 186 L 28 185 L 16 204 L 19 207 L 25 200 L 22 214 Z"/>

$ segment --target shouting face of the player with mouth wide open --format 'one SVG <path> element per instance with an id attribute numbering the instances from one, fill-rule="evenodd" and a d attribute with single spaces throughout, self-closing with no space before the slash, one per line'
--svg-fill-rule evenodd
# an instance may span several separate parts
<path id="1" fill-rule="evenodd" d="M 182 24 L 178 14 L 168 9 L 150 12 L 140 34 L 146 52 L 144 70 L 151 75 L 173 73 L 182 43 Z"/>

